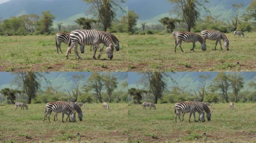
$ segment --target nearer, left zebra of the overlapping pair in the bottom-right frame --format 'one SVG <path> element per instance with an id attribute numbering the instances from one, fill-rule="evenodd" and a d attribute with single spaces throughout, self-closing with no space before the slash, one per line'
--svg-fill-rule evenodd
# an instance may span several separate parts
<path id="1" fill-rule="evenodd" d="M 194 104 L 193 102 L 177 102 L 175 104 L 174 109 L 175 109 L 174 112 L 175 112 L 175 121 L 176 122 L 177 122 L 177 116 L 179 116 L 179 119 L 180 119 L 180 112 L 183 112 L 183 113 L 190 112 L 190 114 L 189 114 L 189 122 L 190 122 L 190 118 L 191 118 L 192 114 L 194 115 L 194 119 L 195 119 L 195 112 L 198 112 L 199 117 L 200 117 L 202 122 L 205 121 L 205 119 L 204 119 L 204 111 L 202 110 L 201 107 L 199 107 L 198 105 Z M 195 121 L 196 121 L 196 119 L 195 119 Z"/>

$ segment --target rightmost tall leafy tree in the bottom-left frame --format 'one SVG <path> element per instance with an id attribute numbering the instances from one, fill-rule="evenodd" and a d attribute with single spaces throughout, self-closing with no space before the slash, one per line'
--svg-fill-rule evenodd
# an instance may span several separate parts
<path id="1" fill-rule="evenodd" d="M 112 102 L 112 93 L 118 87 L 117 78 L 111 73 L 107 73 L 106 75 L 102 75 L 102 81 L 104 82 L 104 86 L 107 89 L 107 95 L 109 95 L 109 102 Z"/>

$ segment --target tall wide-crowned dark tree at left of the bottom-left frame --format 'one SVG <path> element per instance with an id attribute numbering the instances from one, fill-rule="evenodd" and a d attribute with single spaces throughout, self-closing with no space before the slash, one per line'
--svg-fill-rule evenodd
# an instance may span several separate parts
<path id="1" fill-rule="evenodd" d="M 13 83 L 18 84 L 23 88 L 24 92 L 28 95 L 27 103 L 31 104 L 31 99 L 36 99 L 37 92 L 41 87 L 41 79 L 44 79 L 47 83 L 50 83 L 43 74 L 34 71 L 21 71 L 15 72 L 16 74 Z"/>

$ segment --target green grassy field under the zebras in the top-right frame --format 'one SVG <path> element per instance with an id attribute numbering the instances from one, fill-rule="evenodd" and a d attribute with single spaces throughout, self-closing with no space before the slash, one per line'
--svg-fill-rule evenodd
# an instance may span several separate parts
<path id="1" fill-rule="evenodd" d="M 192 43 L 182 42 L 184 53 L 177 46 L 171 34 L 131 35 L 128 38 L 129 71 L 255 71 L 256 70 L 256 33 L 245 33 L 238 38 L 226 34 L 229 51 L 223 51 L 215 41 L 206 41 L 207 50 L 202 51 L 196 42 L 195 52 L 190 52 Z M 239 62 L 239 63 L 238 63 Z"/>

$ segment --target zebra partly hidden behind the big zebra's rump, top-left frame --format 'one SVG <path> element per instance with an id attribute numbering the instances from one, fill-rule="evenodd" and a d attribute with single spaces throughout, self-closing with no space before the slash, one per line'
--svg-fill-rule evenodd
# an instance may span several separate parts
<path id="1" fill-rule="evenodd" d="M 61 43 L 65 43 L 65 44 L 69 44 L 71 42 L 69 33 L 57 33 L 55 36 L 55 44 L 56 44 L 56 48 L 57 48 L 57 53 L 59 53 L 59 48 L 61 51 Z M 84 45 L 80 45 L 80 51 L 81 53 L 84 53 Z M 62 53 L 62 51 L 61 51 Z M 71 52 L 70 52 L 71 53 Z"/>

